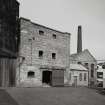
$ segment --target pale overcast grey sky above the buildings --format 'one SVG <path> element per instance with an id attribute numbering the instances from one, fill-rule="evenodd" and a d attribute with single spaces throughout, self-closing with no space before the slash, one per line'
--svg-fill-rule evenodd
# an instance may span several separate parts
<path id="1" fill-rule="evenodd" d="M 105 60 L 105 0 L 18 0 L 20 17 L 71 33 L 71 53 L 77 52 L 77 29 L 82 26 L 82 47 Z"/>

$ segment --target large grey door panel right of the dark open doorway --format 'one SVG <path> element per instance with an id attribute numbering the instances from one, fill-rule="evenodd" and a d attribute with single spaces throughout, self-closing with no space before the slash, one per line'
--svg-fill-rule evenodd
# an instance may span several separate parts
<path id="1" fill-rule="evenodd" d="M 64 86 L 64 70 L 52 71 L 52 86 Z"/>

